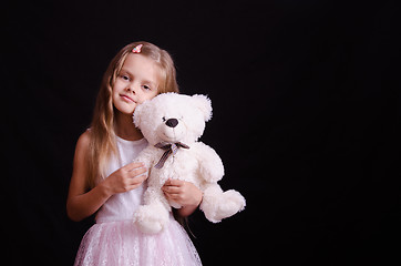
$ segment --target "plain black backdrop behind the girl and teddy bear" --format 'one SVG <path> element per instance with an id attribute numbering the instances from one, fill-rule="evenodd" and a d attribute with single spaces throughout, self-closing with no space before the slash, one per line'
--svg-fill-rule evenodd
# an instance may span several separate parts
<path id="1" fill-rule="evenodd" d="M 186 94 L 246 209 L 189 221 L 205 265 L 399 265 L 395 0 L 12 1 L 2 8 L 4 262 L 72 265 L 92 219 L 65 215 L 74 145 L 110 60 L 146 40 Z M 9 260 L 11 259 L 11 260 Z"/>

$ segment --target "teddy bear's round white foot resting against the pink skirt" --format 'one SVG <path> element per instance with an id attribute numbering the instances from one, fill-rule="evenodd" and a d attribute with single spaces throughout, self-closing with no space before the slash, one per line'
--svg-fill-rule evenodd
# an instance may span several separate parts
<path id="1" fill-rule="evenodd" d="M 161 206 L 141 206 L 134 215 L 134 224 L 146 234 L 157 234 L 168 223 L 167 211 L 158 209 Z"/>

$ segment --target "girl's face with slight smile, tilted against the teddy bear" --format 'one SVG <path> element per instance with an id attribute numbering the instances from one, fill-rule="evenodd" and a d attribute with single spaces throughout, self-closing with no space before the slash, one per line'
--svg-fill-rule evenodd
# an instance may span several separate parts
<path id="1" fill-rule="evenodd" d="M 130 53 L 113 86 L 113 104 L 132 115 L 137 104 L 157 95 L 160 69 L 152 59 Z"/>

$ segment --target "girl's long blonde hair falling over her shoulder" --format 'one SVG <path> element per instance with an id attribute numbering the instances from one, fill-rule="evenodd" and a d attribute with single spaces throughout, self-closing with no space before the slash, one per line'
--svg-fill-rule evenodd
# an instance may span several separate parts
<path id="1" fill-rule="evenodd" d="M 93 112 L 89 149 L 89 187 L 94 187 L 97 177 L 105 177 L 104 174 L 107 160 L 111 155 L 117 154 L 114 131 L 115 109 L 113 105 L 112 91 L 126 57 L 138 44 L 143 45 L 141 54 L 152 59 L 161 70 L 157 93 L 178 92 L 175 66 L 168 52 L 144 41 L 130 43 L 120 50 L 110 62 L 109 68 L 103 75 Z"/>

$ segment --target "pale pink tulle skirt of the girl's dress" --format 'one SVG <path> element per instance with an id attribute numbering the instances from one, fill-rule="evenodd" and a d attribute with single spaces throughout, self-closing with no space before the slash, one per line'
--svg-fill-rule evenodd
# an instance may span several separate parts
<path id="1" fill-rule="evenodd" d="M 202 265 L 184 228 L 174 219 L 160 234 L 141 233 L 132 221 L 93 225 L 81 242 L 74 265 Z"/>

